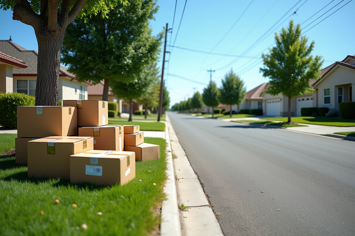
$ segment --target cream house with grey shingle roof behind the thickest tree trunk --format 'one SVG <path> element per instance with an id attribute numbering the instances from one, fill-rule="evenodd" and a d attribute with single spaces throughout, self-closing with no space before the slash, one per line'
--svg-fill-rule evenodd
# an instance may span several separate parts
<path id="1" fill-rule="evenodd" d="M 37 56 L 10 40 L 0 40 L 0 92 L 18 92 L 35 96 Z M 88 99 L 89 82 L 78 82 L 75 75 L 60 66 L 59 99 Z"/>

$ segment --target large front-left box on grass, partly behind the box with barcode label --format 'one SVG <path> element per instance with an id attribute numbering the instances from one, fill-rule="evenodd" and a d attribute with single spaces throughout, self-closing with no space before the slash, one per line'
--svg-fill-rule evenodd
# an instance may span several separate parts
<path id="1" fill-rule="evenodd" d="M 92 137 L 52 136 L 28 142 L 28 177 L 70 179 L 70 155 L 93 150 Z"/>

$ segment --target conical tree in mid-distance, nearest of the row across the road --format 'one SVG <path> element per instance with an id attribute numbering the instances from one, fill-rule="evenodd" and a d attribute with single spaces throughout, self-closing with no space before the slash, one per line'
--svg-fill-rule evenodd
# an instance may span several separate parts
<path id="1" fill-rule="evenodd" d="M 246 98 L 243 86 L 244 82 L 233 72 L 233 69 L 224 75 L 222 87 L 219 89 L 219 101 L 230 105 L 230 117 L 232 117 L 232 105 L 239 105 Z"/>

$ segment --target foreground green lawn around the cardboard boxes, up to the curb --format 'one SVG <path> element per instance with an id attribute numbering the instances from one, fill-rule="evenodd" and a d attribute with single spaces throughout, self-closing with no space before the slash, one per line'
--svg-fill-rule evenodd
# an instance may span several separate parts
<path id="1" fill-rule="evenodd" d="M 4 145 L 9 138 L 12 146 Z M 0 150 L 13 148 L 14 138 L 0 134 Z M 0 157 L 0 235 L 148 235 L 157 230 L 160 216 L 153 208 L 165 199 L 166 143 L 144 141 L 160 145 L 160 160 L 136 162 L 136 178 L 122 186 L 27 178 L 26 165 Z"/>

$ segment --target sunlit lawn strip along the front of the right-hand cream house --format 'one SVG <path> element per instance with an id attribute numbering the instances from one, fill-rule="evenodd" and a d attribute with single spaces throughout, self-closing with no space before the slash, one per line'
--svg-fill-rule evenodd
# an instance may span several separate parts
<path id="1" fill-rule="evenodd" d="M 287 117 L 271 117 L 271 118 L 261 118 L 264 120 L 278 120 L 287 121 Z M 323 116 L 293 116 L 291 121 L 297 123 L 313 124 L 313 125 L 329 125 L 329 126 L 355 126 L 355 120 L 346 120 L 334 117 L 323 117 Z"/>

